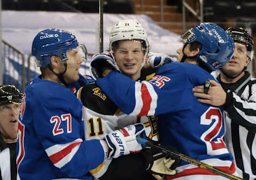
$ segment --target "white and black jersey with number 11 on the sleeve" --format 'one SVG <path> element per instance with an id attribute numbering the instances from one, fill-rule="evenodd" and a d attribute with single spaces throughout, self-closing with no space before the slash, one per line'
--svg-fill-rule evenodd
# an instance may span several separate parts
<path id="1" fill-rule="evenodd" d="M 83 102 L 83 120 L 85 140 L 103 139 L 105 135 L 116 129 L 130 124 L 141 122 L 146 126 L 146 136 L 151 140 L 158 141 L 157 117 L 129 116 L 119 108 L 101 91 L 97 84 L 92 83 L 81 87 L 77 97 Z M 112 159 L 105 161 L 90 173 L 99 178 L 106 173 Z"/>

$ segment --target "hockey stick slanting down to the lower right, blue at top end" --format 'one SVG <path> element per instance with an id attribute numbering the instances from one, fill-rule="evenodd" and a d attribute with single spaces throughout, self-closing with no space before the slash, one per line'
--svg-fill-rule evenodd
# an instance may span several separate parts
<path id="1" fill-rule="evenodd" d="M 242 180 L 242 178 L 240 178 L 240 177 L 237 177 L 237 176 L 234 176 L 232 174 L 229 174 L 229 173 L 227 173 L 227 172 L 225 172 L 223 170 L 220 170 L 218 168 L 214 168 L 213 166 L 207 165 L 204 162 L 201 162 L 201 161 L 198 161 L 196 159 L 190 158 L 190 157 L 188 157 L 188 156 L 186 156 L 184 154 L 177 153 L 177 152 L 174 152 L 174 151 L 172 151 L 170 149 L 163 148 L 161 145 L 156 145 L 153 142 L 145 140 L 144 138 L 141 138 L 139 136 L 137 136 L 136 139 L 142 145 L 154 146 L 155 148 L 161 150 L 165 154 L 170 154 L 171 156 L 177 156 L 177 157 L 179 157 L 183 161 L 189 162 L 189 163 L 191 163 L 191 164 L 193 164 L 195 166 L 198 166 L 198 167 L 201 167 L 203 169 L 209 170 L 212 173 L 218 174 L 218 175 L 226 177 L 228 179 Z"/>

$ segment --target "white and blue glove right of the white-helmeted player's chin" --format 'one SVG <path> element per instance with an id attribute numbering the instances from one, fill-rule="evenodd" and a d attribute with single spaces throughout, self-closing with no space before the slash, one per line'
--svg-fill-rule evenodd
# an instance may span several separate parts
<path id="1" fill-rule="evenodd" d="M 170 56 L 162 53 L 148 53 L 145 64 L 147 68 L 158 68 L 163 66 L 163 64 L 173 62 Z"/>

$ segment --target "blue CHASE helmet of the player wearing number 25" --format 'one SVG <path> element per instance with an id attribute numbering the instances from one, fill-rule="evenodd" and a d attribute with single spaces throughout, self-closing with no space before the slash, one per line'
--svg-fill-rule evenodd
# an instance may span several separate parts
<path id="1" fill-rule="evenodd" d="M 199 42 L 202 49 L 197 59 L 215 71 L 223 67 L 234 53 L 233 38 L 215 23 L 200 23 L 192 29 L 187 43 Z"/>

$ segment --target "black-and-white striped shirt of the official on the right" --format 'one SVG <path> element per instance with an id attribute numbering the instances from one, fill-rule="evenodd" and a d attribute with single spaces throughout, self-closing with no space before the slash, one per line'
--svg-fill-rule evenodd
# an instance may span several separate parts
<path id="1" fill-rule="evenodd" d="M 256 179 L 256 79 L 249 72 L 234 84 L 222 83 L 227 92 L 225 142 L 233 154 L 239 177 Z"/>

